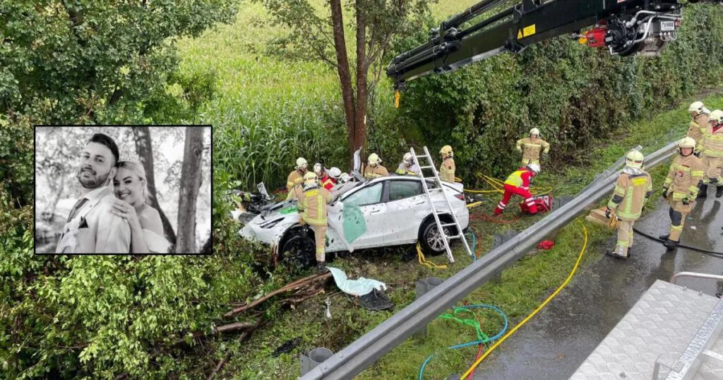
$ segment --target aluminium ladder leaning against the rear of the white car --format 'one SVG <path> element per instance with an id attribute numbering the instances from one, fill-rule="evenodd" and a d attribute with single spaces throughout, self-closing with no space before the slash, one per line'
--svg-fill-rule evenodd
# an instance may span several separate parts
<path id="1" fill-rule="evenodd" d="M 427 147 L 425 146 L 424 154 L 421 154 L 419 156 L 414 153 L 414 148 L 409 148 L 409 152 L 414 159 L 414 164 L 416 164 L 416 166 L 419 168 L 419 177 L 422 178 L 422 189 L 424 189 L 424 194 L 427 195 L 427 200 L 429 200 L 429 206 L 432 206 L 432 215 L 435 217 L 435 222 L 437 223 L 437 231 L 439 231 L 440 235 L 442 236 L 442 242 L 444 242 L 445 250 L 447 251 L 447 258 L 449 259 L 450 263 L 454 263 L 454 257 L 452 256 L 452 250 L 450 249 L 449 244 L 450 240 L 462 240 L 464 249 L 467 251 L 467 253 L 469 253 L 470 256 L 474 255 L 474 253 L 472 253 L 472 250 L 469 248 L 469 245 L 467 244 L 467 240 L 464 238 L 464 234 L 462 232 L 462 228 L 459 225 L 459 221 L 457 220 L 457 216 L 452 210 L 452 204 L 450 203 L 449 198 L 447 198 L 444 193 L 444 185 L 442 185 L 442 180 L 440 180 L 440 174 L 437 172 L 434 161 L 432 161 L 432 156 L 429 155 L 429 150 L 427 150 Z M 426 166 L 420 165 L 419 159 L 427 159 L 428 164 Z M 442 221 L 440 221 L 440 215 L 446 214 L 446 212 L 437 211 L 435 203 L 434 201 L 432 201 L 432 194 L 430 193 L 429 187 L 427 187 L 428 178 L 424 177 L 424 169 L 432 169 L 432 173 L 434 174 L 434 176 L 428 178 L 435 180 L 437 187 L 433 188 L 431 191 L 439 190 L 442 192 L 442 198 L 444 198 L 445 202 L 447 203 L 447 207 L 449 208 L 449 214 L 452 216 L 452 220 L 454 221 L 453 223 L 442 223 Z M 445 227 L 455 227 L 457 229 L 457 235 L 447 235 L 445 233 Z"/>

